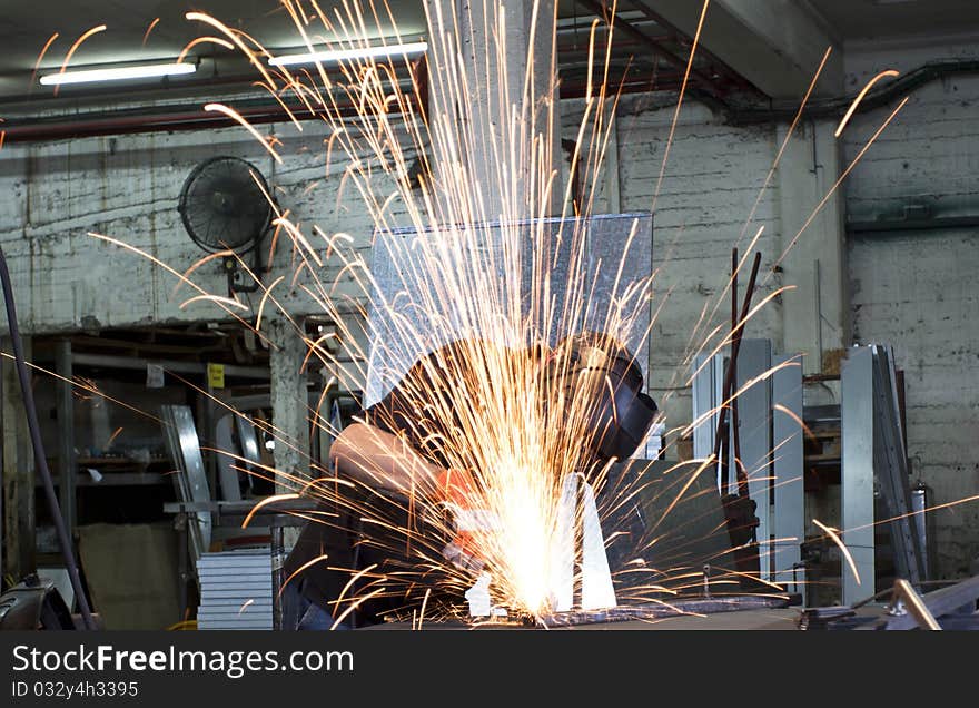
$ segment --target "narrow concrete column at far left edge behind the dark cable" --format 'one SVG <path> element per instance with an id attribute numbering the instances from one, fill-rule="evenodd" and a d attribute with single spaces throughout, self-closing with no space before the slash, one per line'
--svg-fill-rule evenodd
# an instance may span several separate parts
<path id="1" fill-rule="evenodd" d="M 23 338 L 24 356 L 31 358 L 30 337 Z M 3 338 L 10 352 L 10 340 Z M 20 582 L 37 570 L 34 531 L 34 455 L 31 448 L 20 382 L 13 360 L 0 362 L 0 404 L 3 415 L 3 572 Z"/>

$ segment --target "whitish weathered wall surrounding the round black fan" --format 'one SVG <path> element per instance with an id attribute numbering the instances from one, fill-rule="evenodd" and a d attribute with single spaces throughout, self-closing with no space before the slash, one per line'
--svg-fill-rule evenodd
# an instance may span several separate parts
<path id="1" fill-rule="evenodd" d="M 297 131 L 289 125 L 259 127 L 276 135 L 284 156 L 278 165 L 240 128 L 205 132 L 132 135 L 8 145 L 0 150 L 0 244 L 18 296 L 18 316 L 28 332 L 132 326 L 159 322 L 228 318 L 212 303 L 180 304 L 198 293 L 147 258 L 88 235 L 97 232 L 122 240 L 182 273 L 206 255 L 186 234 L 177 212 L 184 180 L 200 161 L 218 155 L 249 160 L 274 187 L 283 210 L 325 233 L 343 230 L 358 247 L 369 247 L 372 222 L 350 185 L 340 190 L 343 163 L 327 169 L 326 130 L 317 122 Z M 392 209 L 397 218 L 397 205 Z M 325 244 L 313 239 L 322 253 Z M 268 242 L 266 242 L 267 247 Z M 293 265 L 288 239 L 280 242 L 279 273 Z M 325 268 L 317 276 L 332 282 Z M 192 279 L 217 295 L 227 295 L 219 262 L 197 271 Z M 247 282 L 247 281 L 246 281 Z M 290 298 L 290 288 L 276 291 Z M 298 288 L 291 305 L 316 306 Z M 241 294 L 253 308 L 258 295 Z M 6 315 L 2 317 L 6 327 Z"/>

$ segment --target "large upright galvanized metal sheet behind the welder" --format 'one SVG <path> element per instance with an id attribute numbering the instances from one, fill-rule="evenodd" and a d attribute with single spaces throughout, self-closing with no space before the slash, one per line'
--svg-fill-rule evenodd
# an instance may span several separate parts
<path id="1" fill-rule="evenodd" d="M 572 260 L 570 234 L 577 226 L 585 229 L 586 262 L 581 266 L 581 273 L 568 277 L 567 269 Z M 544 229 L 544 238 L 531 237 L 534 233 L 532 229 L 536 228 Z M 558 229 L 562 230 L 562 239 L 557 238 Z M 514 237 L 515 234 L 517 237 Z M 546 235 L 551 238 L 547 239 Z M 582 295 L 586 312 L 575 322 L 560 322 L 555 318 L 544 323 L 540 316 L 533 319 L 541 323 L 535 325 L 540 330 L 535 334 L 547 338 L 552 344 L 562 336 L 582 330 L 604 330 L 605 314 L 613 295 L 621 296 L 631 284 L 652 275 L 653 217 L 649 213 L 597 215 L 587 219 L 534 219 L 506 224 L 503 228 L 497 223 L 469 225 L 452 232 L 445 229 L 419 233 L 407 228 L 377 233 L 374 237 L 370 271 L 376 289 L 368 313 L 370 346 L 363 401 L 365 407 L 384 397 L 404 377 L 412 364 L 426 353 L 454 340 L 479 334 L 478 323 L 473 323 L 472 303 L 465 302 L 465 298 L 445 295 L 436 296 L 434 302 L 431 298 L 433 293 L 446 292 L 448 279 L 465 278 L 466 274 L 448 273 L 443 282 L 442 274 L 433 273 L 432 268 L 418 268 L 416 265 L 419 257 L 419 248 L 416 247 L 418 244 L 428 244 L 424 248 L 436 248 L 438 246 L 432 244 L 444 243 L 446 238 L 453 238 L 455 247 L 465 249 L 464 257 L 455 255 L 452 258 L 466 262 L 466 267 L 472 268 L 473 274 L 478 273 L 477 282 L 493 283 L 493 278 L 485 274 L 497 274 L 495 283 L 498 287 L 494 287 L 493 293 L 482 295 L 500 303 L 512 303 L 515 296 L 520 297 L 523 317 L 530 315 L 531 303 L 534 302 L 531 294 L 538 289 L 531 287 L 535 269 L 543 269 L 554 283 L 552 298 L 557 313 L 561 312 L 565 298 L 573 296 L 565 292 L 565 286 L 584 287 Z M 553 249 L 557 253 L 542 254 L 532 250 L 534 240 L 553 244 Z M 627 258 L 623 258 L 626 252 Z M 620 263 L 623 264 L 621 274 Z M 520 284 L 503 277 L 504 271 L 512 267 L 521 268 Z M 468 278 L 477 277 L 473 274 Z M 514 292 L 514 287 L 518 292 Z M 503 309 L 501 306 L 502 316 Z M 644 334 L 650 317 L 651 313 L 646 307 L 644 317 L 635 323 L 632 340 L 627 342 L 644 374 L 647 374 L 649 365 L 649 344 Z M 409 332 L 425 333 L 425 341 L 417 336 L 405 337 L 406 327 Z"/>

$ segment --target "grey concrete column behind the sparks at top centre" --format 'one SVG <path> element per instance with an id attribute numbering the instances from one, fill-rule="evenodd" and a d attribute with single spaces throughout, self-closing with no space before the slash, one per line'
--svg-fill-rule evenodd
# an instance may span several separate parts
<path id="1" fill-rule="evenodd" d="M 433 149 L 442 168 L 461 153 L 472 220 L 560 213 L 554 1 L 441 0 L 441 26 L 432 10 L 429 109 L 439 126 Z M 457 40 L 443 46 L 446 35 Z M 552 170 L 557 174 L 545 195 L 541 176 Z M 437 178 L 458 181 L 446 171 Z"/>

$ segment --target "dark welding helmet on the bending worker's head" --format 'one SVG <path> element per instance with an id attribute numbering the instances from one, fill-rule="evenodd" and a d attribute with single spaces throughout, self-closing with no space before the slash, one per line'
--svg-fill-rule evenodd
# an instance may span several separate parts
<path id="1" fill-rule="evenodd" d="M 562 340 L 555 347 L 566 357 L 565 385 L 572 395 L 586 395 L 585 440 L 595 463 L 624 460 L 645 442 L 659 412 L 643 393 L 643 373 L 629 348 L 607 334 L 583 332 Z"/>

